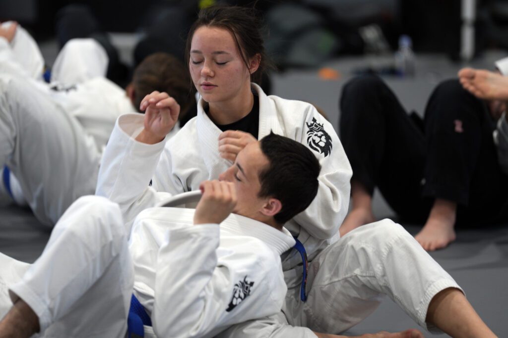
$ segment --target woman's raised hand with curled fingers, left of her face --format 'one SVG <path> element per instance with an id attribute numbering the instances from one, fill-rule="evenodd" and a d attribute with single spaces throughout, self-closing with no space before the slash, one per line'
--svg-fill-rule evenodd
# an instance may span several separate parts
<path id="1" fill-rule="evenodd" d="M 140 110 L 145 111 L 143 131 L 136 140 L 155 144 L 161 142 L 173 129 L 178 121 L 180 105 L 168 93 L 154 91 L 146 95 L 140 104 Z"/>

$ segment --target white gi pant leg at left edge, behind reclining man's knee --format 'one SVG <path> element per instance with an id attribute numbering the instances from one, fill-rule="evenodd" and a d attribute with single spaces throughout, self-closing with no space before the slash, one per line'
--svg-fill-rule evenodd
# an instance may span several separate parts
<path id="1" fill-rule="evenodd" d="M 39 84 L 0 76 L 0 166 L 19 179 L 36 217 L 53 226 L 78 197 L 95 192 L 100 154 L 91 136 Z M 41 86 L 43 86 L 41 84 Z"/>

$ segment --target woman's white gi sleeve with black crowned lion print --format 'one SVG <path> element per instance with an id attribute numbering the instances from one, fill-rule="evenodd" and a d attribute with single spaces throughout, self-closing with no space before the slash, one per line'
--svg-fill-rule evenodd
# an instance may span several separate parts
<path id="1" fill-rule="evenodd" d="M 326 240 L 338 234 L 346 216 L 353 171 L 333 126 L 313 106 L 296 136 L 319 160 L 321 173 L 316 197 L 294 220 L 312 237 Z"/>

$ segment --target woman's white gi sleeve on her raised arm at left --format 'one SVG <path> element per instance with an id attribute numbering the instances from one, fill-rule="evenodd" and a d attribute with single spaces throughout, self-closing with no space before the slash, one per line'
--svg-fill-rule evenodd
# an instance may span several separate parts
<path id="1" fill-rule="evenodd" d="M 149 186 L 166 140 L 157 144 L 136 141 L 143 121 L 142 114 L 126 114 L 117 119 L 102 157 L 96 188 L 96 195 L 120 206 L 128 229 L 138 213 L 171 196 Z"/>

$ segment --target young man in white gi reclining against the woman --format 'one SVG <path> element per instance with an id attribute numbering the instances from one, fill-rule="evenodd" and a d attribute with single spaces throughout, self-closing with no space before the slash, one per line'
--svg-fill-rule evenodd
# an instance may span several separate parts
<path id="1" fill-rule="evenodd" d="M 224 181 L 201 184 L 196 210 L 139 213 L 129 248 L 118 206 L 79 199 L 32 266 L 0 256 L 3 310 L 14 284 L 0 337 L 121 337 L 133 282 L 157 337 L 213 336 L 277 313 L 287 291 L 280 254 L 295 244 L 282 225 L 313 200 L 319 172 L 305 146 L 271 134 L 245 147 Z"/>

